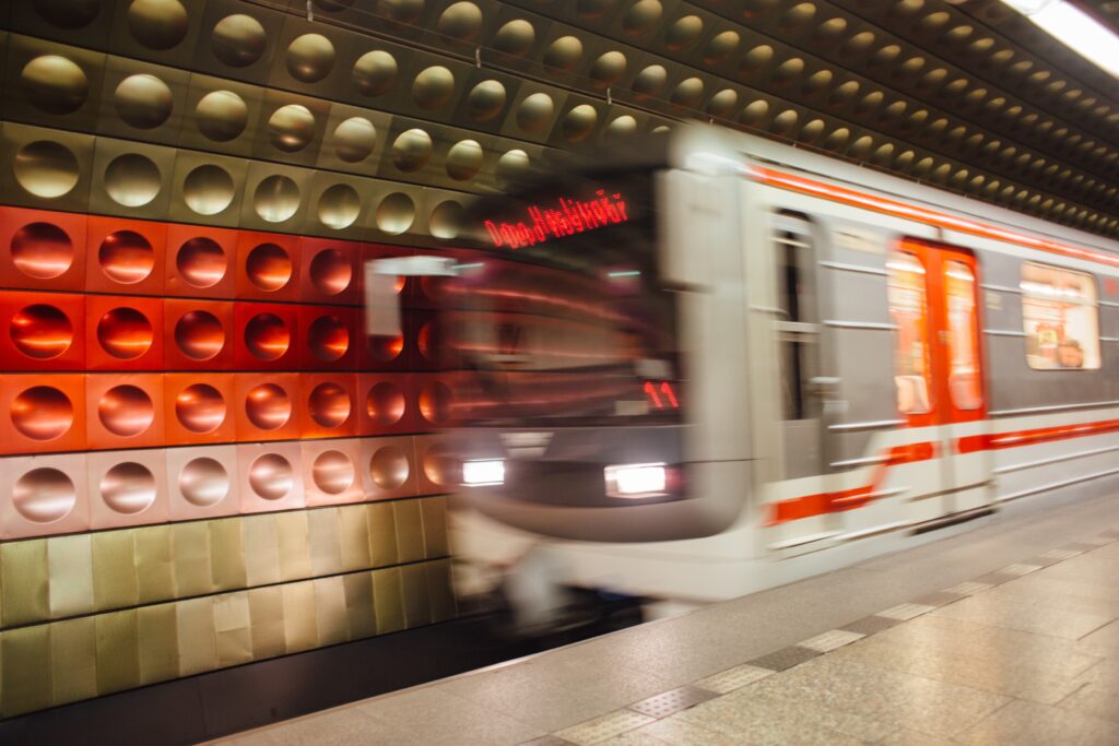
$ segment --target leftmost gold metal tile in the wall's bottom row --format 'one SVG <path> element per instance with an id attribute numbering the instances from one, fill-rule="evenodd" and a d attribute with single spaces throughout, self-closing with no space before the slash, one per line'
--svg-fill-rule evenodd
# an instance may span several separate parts
<path id="1" fill-rule="evenodd" d="M 8 630 L 0 634 L 0 715 L 50 707 L 50 627 L 46 624 Z"/>

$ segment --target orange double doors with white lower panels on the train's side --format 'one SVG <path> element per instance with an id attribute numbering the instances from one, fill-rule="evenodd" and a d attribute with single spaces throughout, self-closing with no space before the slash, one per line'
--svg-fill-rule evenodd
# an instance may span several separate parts
<path id="1" fill-rule="evenodd" d="M 929 242 L 903 239 L 887 261 L 890 312 L 897 327 L 894 383 L 897 408 L 915 438 L 899 461 L 932 459 L 939 484 L 914 484 L 920 518 L 985 506 L 987 454 L 959 455 L 959 438 L 985 426 L 987 397 L 979 327 L 975 255 Z M 920 441 L 920 442 L 916 442 Z"/>

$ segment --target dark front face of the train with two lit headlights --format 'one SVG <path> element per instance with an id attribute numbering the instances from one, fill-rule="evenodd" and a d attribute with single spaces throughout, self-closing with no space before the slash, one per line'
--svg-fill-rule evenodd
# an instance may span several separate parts
<path id="1" fill-rule="evenodd" d="M 479 247 L 460 262 L 444 314 L 462 494 L 500 535 L 480 541 L 483 554 L 498 554 L 508 527 L 650 542 L 716 533 L 741 511 L 741 492 L 709 487 L 712 471 L 746 483 L 744 444 L 728 432 L 722 454 L 702 451 L 696 340 L 713 290 L 674 272 L 681 248 L 705 247 L 668 244 L 666 173 L 646 153 L 538 178 L 469 218 Z M 742 350 L 731 340 L 722 353 L 734 377 Z M 472 554 L 478 531 L 460 533 L 457 549 Z"/>

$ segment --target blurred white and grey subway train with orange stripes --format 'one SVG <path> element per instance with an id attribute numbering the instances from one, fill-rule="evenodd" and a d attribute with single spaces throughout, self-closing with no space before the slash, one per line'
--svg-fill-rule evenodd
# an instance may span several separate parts
<path id="1" fill-rule="evenodd" d="M 1113 489 L 1119 244 L 726 130 L 665 145 L 471 218 L 460 557 L 709 601 Z"/>

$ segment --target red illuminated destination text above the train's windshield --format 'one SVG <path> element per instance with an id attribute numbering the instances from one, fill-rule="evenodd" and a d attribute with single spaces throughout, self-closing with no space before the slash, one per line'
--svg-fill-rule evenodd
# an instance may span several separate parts
<path id="1" fill-rule="evenodd" d="M 626 200 L 620 193 L 606 196 L 605 190 L 594 192 L 598 199 L 581 201 L 560 198 L 557 207 L 533 205 L 528 208 L 529 223 L 495 223 L 485 220 L 490 240 L 497 247 L 521 248 L 551 238 L 563 238 L 584 230 L 629 220 Z"/>

